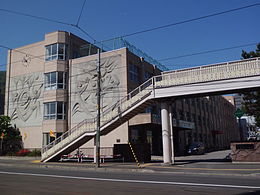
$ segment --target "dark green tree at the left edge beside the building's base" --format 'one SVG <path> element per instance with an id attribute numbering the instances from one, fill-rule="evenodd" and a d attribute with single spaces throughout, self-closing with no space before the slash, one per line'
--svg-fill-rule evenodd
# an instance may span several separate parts
<path id="1" fill-rule="evenodd" d="M 2 154 L 14 153 L 22 148 L 22 136 L 19 129 L 11 125 L 8 116 L 0 116 L 0 135 Z"/>

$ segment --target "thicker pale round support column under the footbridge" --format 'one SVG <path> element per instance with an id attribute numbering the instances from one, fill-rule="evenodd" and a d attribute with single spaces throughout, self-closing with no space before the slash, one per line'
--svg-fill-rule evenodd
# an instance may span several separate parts
<path id="1" fill-rule="evenodd" d="M 163 142 L 163 162 L 171 163 L 171 147 L 170 147 L 170 122 L 169 122 L 169 105 L 167 102 L 161 102 L 161 118 L 162 118 L 162 142 Z"/>

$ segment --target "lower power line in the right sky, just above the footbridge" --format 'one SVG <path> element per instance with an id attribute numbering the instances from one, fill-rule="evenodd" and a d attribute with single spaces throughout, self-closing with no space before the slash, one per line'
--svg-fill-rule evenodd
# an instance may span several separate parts
<path id="1" fill-rule="evenodd" d="M 238 45 L 238 46 L 226 47 L 226 48 L 221 48 L 221 49 L 207 50 L 207 51 L 202 51 L 202 52 L 197 52 L 197 53 L 191 53 L 191 54 L 185 54 L 185 55 L 174 56 L 174 57 L 169 57 L 169 58 L 163 58 L 163 59 L 159 59 L 158 61 L 167 61 L 167 60 L 173 60 L 173 59 L 177 59 L 177 58 L 190 57 L 190 56 L 213 53 L 213 52 L 218 52 L 218 51 L 225 51 L 225 50 L 230 50 L 230 49 L 252 46 L 252 45 L 256 45 L 256 44 L 257 43 L 249 43 L 249 44 L 245 44 L 245 45 Z"/>

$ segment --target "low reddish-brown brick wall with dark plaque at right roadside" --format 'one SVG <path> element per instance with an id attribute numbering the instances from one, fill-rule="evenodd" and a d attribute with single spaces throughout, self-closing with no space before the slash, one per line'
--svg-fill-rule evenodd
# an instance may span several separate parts
<path id="1" fill-rule="evenodd" d="M 232 162 L 260 162 L 260 141 L 231 143 Z"/>

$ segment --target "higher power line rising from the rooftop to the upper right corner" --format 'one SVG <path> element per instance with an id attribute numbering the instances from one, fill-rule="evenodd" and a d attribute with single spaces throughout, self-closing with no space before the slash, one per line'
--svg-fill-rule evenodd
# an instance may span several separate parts
<path id="1" fill-rule="evenodd" d="M 159 30 L 159 29 L 163 29 L 163 28 L 168 28 L 168 27 L 171 27 L 171 26 L 177 26 L 177 25 L 180 25 L 180 24 L 194 22 L 194 21 L 197 21 L 197 20 L 202 20 L 202 19 L 205 19 L 205 18 L 219 16 L 219 15 L 227 14 L 227 13 L 230 13 L 230 12 L 235 12 L 235 11 L 238 11 L 238 10 L 242 10 L 242 9 L 247 9 L 247 8 L 259 6 L 259 5 L 260 5 L 260 3 L 247 5 L 247 6 L 243 6 L 243 7 L 239 7 L 239 8 L 235 8 L 235 9 L 230 9 L 230 10 L 226 10 L 226 11 L 222 11 L 222 12 L 209 14 L 209 15 L 206 15 L 206 16 L 201 16 L 201 17 L 197 17 L 197 18 L 192 18 L 192 19 L 188 19 L 188 20 L 184 20 L 184 21 L 180 21 L 180 22 L 175 22 L 175 23 L 171 23 L 171 24 L 166 24 L 166 25 L 162 25 L 162 26 L 158 26 L 158 27 L 154 27 L 154 28 L 149 28 L 149 29 L 145 29 L 145 30 L 141 30 L 141 31 L 125 34 L 125 35 L 122 35 L 120 37 L 122 37 L 122 38 L 123 37 L 130 37 L 130 36 L 137 35 L 137 34 L 142 34 L 142 33 L 151 32 L 151 31 L 155 31 L 155 30 Z M 116 37 L 116 38 L 120 38 L 120 37 Z M 105 41 L 110 41 L 110 40 L 112 40 L 112 39 L 107 39 Z"/>

